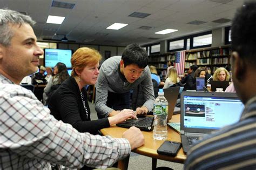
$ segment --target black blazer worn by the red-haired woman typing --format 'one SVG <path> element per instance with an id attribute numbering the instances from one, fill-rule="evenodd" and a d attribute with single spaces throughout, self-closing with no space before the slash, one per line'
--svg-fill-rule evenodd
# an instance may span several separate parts
<path id="1" fill-rule="evenodd" d="M 69 77 L 52 94 L 48 108 L 51 114 L 64 123 L 71 124 L 79 132 L 98 134 L 98 130 L 109 127 L 108 118 L 91 120 L 86 89 L 83 87 L 87 116 L 75 78 Z"/>

